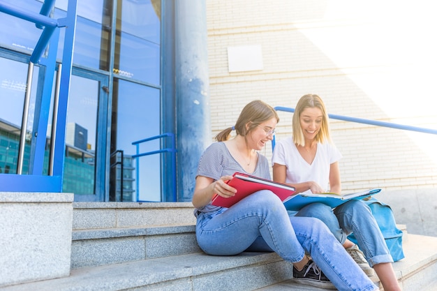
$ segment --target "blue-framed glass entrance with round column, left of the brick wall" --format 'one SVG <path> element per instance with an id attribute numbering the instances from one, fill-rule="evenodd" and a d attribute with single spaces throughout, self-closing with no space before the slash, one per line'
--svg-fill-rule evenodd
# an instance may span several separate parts
<path id="1" fill-rule="evenodd" d="M 56 137 L 51 129 L 59 130 L 52 126 L 54 112 L 59 112 L 54 109 L 57 88 L 51 90 L 50 107 L 42 104 L 47 91 L 44 81 L 51 78 L 47 73 L 50 48 L 55 47 L 58 66 L 66 54 L 73 59 L 62 138 L 66 149 L 61 156 L 61 190 L 75 193 L 76 201 L 189 200 L 192 169 L 210 140 L 209 122 L 199 126 L 191 121 L 192 117 L 209 120 L 205 2 L 2 0 L 0 4 L 0 64 L 7 68 L 0 73 L 0 99 L 6 104 L 0 110 L 5 125 L 1 133 L 7 140 L 0 149 L 4 153 L 0 167 L 2 174 L 10 174 L 0 177 L 2 181 L 8 182 L 14 174 L 50 175 L 47 156 L 52 135 Z M 45 33 L 28 20 L 39 20 L 46 4 L 50 8 L 45 12 L 57 20 L 60 32 L 53 33 L 27 86 L 29 59 Z M 75 27 L 70 48 L 69 26 L 64 23 L 72 8 L 76 13 L 70 23 Z M 193 31 L 197 37 L 189 35 Z M 60 66 L 53 78 L 60 75 L 58 71 Z M 38 126 L 44 115 L 45 163 L 38 172 L 37 140 L 45 132 Z M 20 140 L 24 127 L 26 138 Z M 200 142 L 189 142 L 192 138 Z M 21 144 L 22 166 L 20 154 L 13 151 Z"/>

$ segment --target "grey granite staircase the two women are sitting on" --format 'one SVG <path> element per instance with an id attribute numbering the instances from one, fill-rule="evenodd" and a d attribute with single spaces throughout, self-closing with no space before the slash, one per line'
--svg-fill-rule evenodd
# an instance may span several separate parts
<path id="1" fill-rule="evenodd" d="M 407 239 L 406 226 L 398 227 L 406 258 L 394 269 L 403 290 L 431 291 L 437 237 L 408 234 Z M 188 202 L 75 202 L 72 237 L 71 276 L 0 290 L 320 290 L 292 283 L 291 264 L 276 253 L 205 255 L 195 241 Z"/>

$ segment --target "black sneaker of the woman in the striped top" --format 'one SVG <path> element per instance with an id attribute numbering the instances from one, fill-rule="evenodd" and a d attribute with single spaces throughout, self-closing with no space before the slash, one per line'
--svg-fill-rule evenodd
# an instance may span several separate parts
<path id="1" fill-rule="evenodd" d="M 336 289 L 313 260 L 309 260 L 302 271 L 297 271 L 293 267 L 293 281 L 325 289 Z"/>

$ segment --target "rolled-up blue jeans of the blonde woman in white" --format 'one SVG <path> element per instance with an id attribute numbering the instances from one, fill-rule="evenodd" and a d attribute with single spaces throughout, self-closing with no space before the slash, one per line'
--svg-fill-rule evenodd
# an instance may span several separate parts
<path id="1" fill-rule="evenodd" d="M 393 262 L 378 223 L 369 206 L 361 200 L 350 200 L 335 209 L 325 204 L 313 203 L 302 208 L 296 216 L 319 218 L 341 244 L 344 244 L 348 235 L 353 232 L 370 267 L 383 262 Z"/>

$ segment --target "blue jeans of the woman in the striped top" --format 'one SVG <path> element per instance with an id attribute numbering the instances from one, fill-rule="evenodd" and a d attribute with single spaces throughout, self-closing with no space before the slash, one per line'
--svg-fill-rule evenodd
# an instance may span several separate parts
<path id="1" fill-rule="evenodd" d="M 378 290 L 327 226 L 316 218 L 290 217 L 271 191 L 258 191 L 229 209 L 198 214 L 196 237 L 209 255 L 275 251 L 288 262 L 309 253 L 339 290 Z"/>

